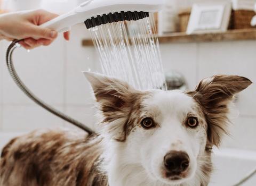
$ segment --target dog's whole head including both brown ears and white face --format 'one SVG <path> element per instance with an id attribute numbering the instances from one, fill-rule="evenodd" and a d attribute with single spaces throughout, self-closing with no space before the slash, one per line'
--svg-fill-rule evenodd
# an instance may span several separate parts
<path id="1" fill-rule="evenodd" d="M 149 179 L 167 184 L 204 176 L 209 148 L 219 146 L 227 133 L 231 100 L 252 83 L 216 75 L 194 91 L 139 91 L 114 78 L 85 75 L 103 116 L 103 136 L 122 151 L 122 161 L 140 165 Z"/>

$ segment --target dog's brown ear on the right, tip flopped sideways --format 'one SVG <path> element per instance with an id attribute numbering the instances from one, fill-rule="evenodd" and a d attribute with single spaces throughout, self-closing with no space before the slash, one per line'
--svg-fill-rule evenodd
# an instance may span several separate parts
<path id="1" fill-rule="evenodd" d="M 215 75 L 202 80 L 196 87 L 194 98 L 201 104 L 208 124 L 210 145 L 219 146 L 223 134 L 227 134 L 229 104 L 234 96 L 252 82 L 237 75 Z"/>

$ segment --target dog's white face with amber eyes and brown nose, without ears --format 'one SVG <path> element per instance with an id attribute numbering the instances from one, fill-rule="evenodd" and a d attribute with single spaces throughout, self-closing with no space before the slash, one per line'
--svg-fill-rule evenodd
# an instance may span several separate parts
<path id="1" fill-rule="evenodd" d="M 181 91 L 153 90 L 134 112 L 128 151 L 154 180 L 182 183 L 195 176 L 207 141 L 200 106 Z M 138 162 L 138 163 L 139 163 Z"/>

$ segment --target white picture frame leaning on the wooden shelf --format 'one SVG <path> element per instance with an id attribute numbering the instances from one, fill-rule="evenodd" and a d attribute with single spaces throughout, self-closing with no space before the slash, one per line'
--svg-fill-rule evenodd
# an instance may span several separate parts
<path id="1" fill-rule="evenodd" d="M 187 34 L 225 32 L 230 15 L 230 2 L 196 3 L 192 7 Z"/>

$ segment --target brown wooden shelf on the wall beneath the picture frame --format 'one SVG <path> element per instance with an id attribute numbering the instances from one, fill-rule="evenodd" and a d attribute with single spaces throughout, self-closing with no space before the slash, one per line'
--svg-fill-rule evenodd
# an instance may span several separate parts
<path id="1" fill-rule="evenodd" d="M 228 30 L 222 33 L 203 33 L 186 35 L 185 32 L 170 33 L 159 36 L 159 43 L 202 43 L 218 41 L 237 41 L 256 39 L 256 29 Z M 83 46 L 93 46 L 91 39 L 83 39 Z"/>

